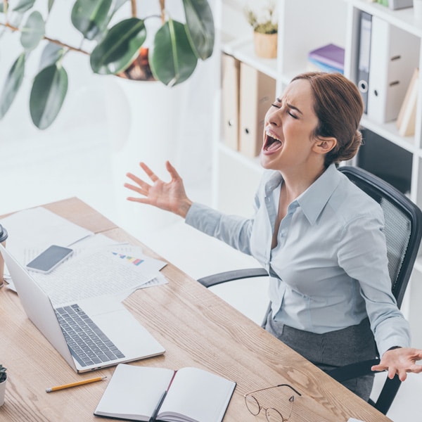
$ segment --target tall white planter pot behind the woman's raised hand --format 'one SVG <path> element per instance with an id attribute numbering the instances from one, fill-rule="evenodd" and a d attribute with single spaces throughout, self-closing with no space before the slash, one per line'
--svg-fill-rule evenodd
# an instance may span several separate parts
<path id="1" fill-rule="evenodd" d="M 127 172 L 148 180 L 139 167 L 143 161 L 168 180 L 165 161 L 178 164 L 180 129 L 186 122 L 183 99 L 186 85 L 168 88 L 160 82 L 139 82 L 110 77 L 105 84 L 108 134 L 111 147 L 116 223 L 138 235 L 172 224 L 177 216 L 126 200 Z M 185 93 L 186 94 L 186 93 Z M 136 196 L 136 193 L 133 193 Z"/>

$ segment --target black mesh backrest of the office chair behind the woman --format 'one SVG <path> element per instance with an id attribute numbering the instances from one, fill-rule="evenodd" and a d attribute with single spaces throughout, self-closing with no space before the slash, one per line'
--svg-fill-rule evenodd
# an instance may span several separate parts
<path id="1" fill-rule="evenodd" d="M 342 167 L 339 170 L 342 171 Z M 356 171 L 359 172 L 361 170 L 354 170 L 354 172 Z M 381 180 L 379 181 L 381 186 L 378 186 L 378 181 L 373 175 L 367 179 L 364 177 L 364 174 L 362 176 L 362 174 L 349 172 L 347 167 L 345 167 L 343 172 L 362 191 L 376 200 L 383 209 L 388 271 L 390 273 L 392 293 L 397 300 L 397 305 L 400 306 L 402 304 L 404 289 L 409 281 L 410 271 L 407 271 L 406 267 L 409 264 L 405 262 L 405 258 L 408 252 L 409 242 L 411 241 L 413 217 L 409 214 L 406 207 L 397 200 L 397 194 L 402 196 L 402 193 L 396 191 L 392 186 L 385 184 Z M 387 186 L 387 190 L 385 186 Z M 412 267 L 413 263 L 414 261 L 411 262 Z"/>

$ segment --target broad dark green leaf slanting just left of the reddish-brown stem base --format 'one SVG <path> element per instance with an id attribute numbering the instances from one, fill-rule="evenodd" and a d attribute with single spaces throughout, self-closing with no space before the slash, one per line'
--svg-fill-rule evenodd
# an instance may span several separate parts
<path id="1" fill-rule="evenodd" d="M 91 68 L 95 73 L 110 75 L 122 72 L 139 55 L 146 39 L 143 20 L 129 18 L 117 23 L 91 53 Z"/>

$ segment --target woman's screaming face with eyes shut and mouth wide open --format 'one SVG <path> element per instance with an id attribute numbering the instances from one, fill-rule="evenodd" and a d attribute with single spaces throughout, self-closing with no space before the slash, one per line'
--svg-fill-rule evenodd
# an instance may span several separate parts
<path id="1" fill-rule="evenodd" d="M 301 170 L 316 157 L 312 136 L 318 124 L 311 85 L 306 79 L 291 82 L 281 98 L 269 108 L 264 121 L 260 155 L 265 169 Z"/>

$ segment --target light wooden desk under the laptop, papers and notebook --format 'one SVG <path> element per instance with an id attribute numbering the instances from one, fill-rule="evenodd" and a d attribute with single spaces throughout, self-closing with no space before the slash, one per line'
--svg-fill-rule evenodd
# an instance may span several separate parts
<path id="1" fill-rule="evenodd" d="M 45 207 L 96 233 L 141 245 L 148 255 L 158 257 L 77 198 Z M 197 366 L 236 381 L 224 422 L 266 421 L 264 414 L 249 414 L 243 394 L 280 383 L 302 393 L 295 399 L 291 422 L 345 422 L 350 417 L 390 421 L 172 264 L 162 273 L 167 285 L 137 290 L 124 303 L 166 352 L 132 364 L 170 369 Z M 50 394 L 45 389 L 93 375 L 110 378 L 114 368 L 77 375 L 27 319 L 18 296 L 7 288 L 0 290 L 0 315 L 0 363 L 8 369 L 0 421 L 101 420 L 93 411 L 108 381 Z M 260 396 L 262 406 L 276 407 L 287 416 L 286 390 L 265 392 Z"/>

